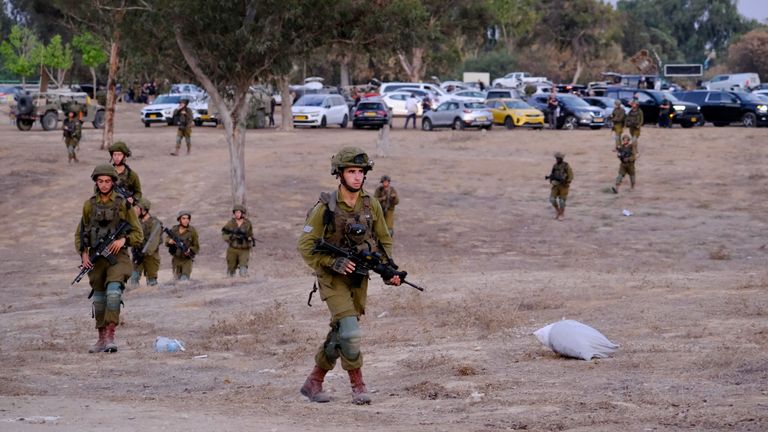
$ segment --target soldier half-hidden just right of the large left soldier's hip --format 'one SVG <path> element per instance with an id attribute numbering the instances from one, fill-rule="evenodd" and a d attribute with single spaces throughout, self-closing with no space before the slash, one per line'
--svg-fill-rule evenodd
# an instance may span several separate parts
<path id="1" fill-rule="evenodd" d="M 131 284 L 138 285 L 141 275 L 147 277 L 147 285 L 157 285 L 157 272 L 160 270 L 160 243 L 163 241 L 163 223 L 149 214 L 151 203 L 141 198 L 133 209 L 141 222 L 144 243 L 133 248 L 133 273 Z"/>

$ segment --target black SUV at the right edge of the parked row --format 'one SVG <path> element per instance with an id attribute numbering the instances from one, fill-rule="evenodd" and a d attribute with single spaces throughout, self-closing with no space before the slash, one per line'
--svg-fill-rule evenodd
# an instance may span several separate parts
<path id="1" fill-rule="evenodd" d="M 704 119 L 715 126 L 740 122 L 744 127 L 768 125 L 768 104 L 750 93 L 694 90 L 675 93 L 678 98 L 701 106 Z"/>

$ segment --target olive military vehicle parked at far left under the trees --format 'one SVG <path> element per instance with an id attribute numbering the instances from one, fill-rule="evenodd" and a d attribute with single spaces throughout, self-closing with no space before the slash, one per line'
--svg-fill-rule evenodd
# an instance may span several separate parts
<path id="1" fill-rule="evenodd" d="M 20 94 L 11 115 L 16 118 L 16 127 L 20 131 L 32 129 L 35 121 L 39 121 L 44 130 L 50 131 L 58 129 L 59 122 L 64 121 L 71 110 L 83 123 L 92 123 L 96 129 L 104 127 L 105 108 L 92 102 L 82 92 Z"/>

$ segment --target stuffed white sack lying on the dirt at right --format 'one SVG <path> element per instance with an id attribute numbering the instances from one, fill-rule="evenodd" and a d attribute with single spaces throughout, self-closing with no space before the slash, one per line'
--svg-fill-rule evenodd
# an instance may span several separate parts
<path id="1" fill-rule="evenodd" d="M 549 324 L 533 334 L 552 351 L 582 360 L 605 358 L 619 348 L 599 331 L 574 320 Z"/>

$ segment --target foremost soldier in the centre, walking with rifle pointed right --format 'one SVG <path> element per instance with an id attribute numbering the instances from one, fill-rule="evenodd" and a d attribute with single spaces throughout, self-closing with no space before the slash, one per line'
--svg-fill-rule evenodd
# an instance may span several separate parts
<path id="1" fill-rule="evenodd" d="M 320 298 L 331 314 L 331 330 L 315 355 L 314 369 L 301 387 L 301 394 L 312 402 L 330 400 L 323 391 L 323 379 L 339 358 L 341 367 L 349 373 L 352 402 L 358 405 L 371 402 L 363 382 L 362 331 L 358 323 L 359 317 L 365 314 L 368 274 L 356 270 L 348 258 L 316 253 L 314 248 L 316 242 L 323 239 L 340 248 L 379 252 L 391 260 L 392 238 L 384 213 L 378 200 L 363 190 L 365 175 L 372 168 L 373 161 L 356 147 L 342 148 L 333 156 L 331 175 L 336 176 L 340 184 L 336 190 L 320 194 L 299 237 L 299 252 L 315 271 L 315 289 L 320 287 Z M 400 277 L 394 276 L 385 283 L 400 285 Z"/>

